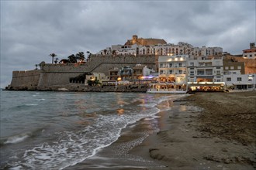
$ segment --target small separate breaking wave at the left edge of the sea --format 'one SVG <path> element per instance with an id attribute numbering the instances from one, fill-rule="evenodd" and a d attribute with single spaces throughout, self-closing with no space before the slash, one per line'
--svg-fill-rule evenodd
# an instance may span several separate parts
<path id="1" fill-rule="evenodd" d="M 42 131 L 44 131 L 43 128 L 38 128 L 35 131 L 29 131 L 22 134 L 15 134 L 9 137 L 0 138 L 0 146 L 20 143 L 25 141 L 27 138 L 35 137 Z"/>

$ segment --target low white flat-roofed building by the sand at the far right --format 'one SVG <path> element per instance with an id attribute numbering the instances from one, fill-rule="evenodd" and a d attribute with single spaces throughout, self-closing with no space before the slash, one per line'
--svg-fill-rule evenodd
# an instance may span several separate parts
<path id="1" fill-rule="evenodd" d="M 256 74 L 228 74 L 223 75 L 227 89 L 253 90 L 256 88 Z"/>

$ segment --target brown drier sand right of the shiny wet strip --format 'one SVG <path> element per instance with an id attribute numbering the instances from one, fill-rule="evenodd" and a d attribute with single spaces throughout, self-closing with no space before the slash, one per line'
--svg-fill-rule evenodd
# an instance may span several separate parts
<path id="1" fill-rule="evenodd" d="M 174 103 L 187 111 L 169 114 L 169 128 L 134 152 L 168 169 L 256 168 L 256 91 L 195 93 Z"/>

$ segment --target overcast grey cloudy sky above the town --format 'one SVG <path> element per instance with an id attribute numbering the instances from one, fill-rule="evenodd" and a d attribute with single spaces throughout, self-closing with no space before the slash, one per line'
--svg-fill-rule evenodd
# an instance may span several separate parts
<path id="1" fill-rule="evenodd" d="M 255 42 L 251 1 L 1 0 L 1 87 L 13 70 L 124 44 L 136 34 L 240 54 Z"/>

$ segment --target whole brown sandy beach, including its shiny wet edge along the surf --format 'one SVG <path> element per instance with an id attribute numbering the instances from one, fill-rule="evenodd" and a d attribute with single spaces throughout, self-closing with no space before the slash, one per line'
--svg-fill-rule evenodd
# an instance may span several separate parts
<path id="1" fill-rule="evenodd" d="M 67 169 L 256 168 L 256 91 L 195 93 L 167 104 L 171 110 L 156 122 L 131 124 L 112 145 Z"/>

